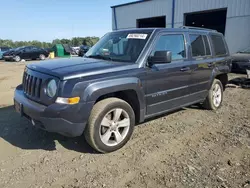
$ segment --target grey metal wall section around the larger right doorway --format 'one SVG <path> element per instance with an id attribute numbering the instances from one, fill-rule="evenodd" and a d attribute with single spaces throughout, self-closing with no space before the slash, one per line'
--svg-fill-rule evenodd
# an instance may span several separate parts
<path id="1" fill-rule="evenodd" d="M 231 53 L 250 46 L 250 0 L 176 0 L 175 27 L 184 24 L 184 14 L 227 8 L 225 38 Z"/>

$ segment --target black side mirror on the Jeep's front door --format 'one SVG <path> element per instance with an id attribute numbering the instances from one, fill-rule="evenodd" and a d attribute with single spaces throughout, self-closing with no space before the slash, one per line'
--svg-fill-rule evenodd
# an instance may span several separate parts
<path id="1" fill-rule="evenodd" d="M 156 51 L 154 56 L 150 56 L 148 58 L 149 65 L 171 63 L 171 61 L 172 61 L 171 51 Z"/>

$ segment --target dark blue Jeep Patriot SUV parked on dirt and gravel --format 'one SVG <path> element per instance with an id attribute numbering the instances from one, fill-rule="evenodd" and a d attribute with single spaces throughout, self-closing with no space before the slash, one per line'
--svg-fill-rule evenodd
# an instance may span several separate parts
<path id="1" fill-rule="evenodd" d="M 27 65 L 15 109 L 49 132 L 84 134 L 107 153 L 124 146 L 145 119 L 199 103 L 217 110 L 230 69 L 226 42 L 216 31 L 120 30 L 82 58 Z"/>

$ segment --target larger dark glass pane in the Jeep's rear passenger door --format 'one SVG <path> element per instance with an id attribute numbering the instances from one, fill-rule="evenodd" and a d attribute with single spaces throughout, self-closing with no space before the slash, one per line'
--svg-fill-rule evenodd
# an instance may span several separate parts
<path id="1" fill-rule="evenodd" d="M 193 57 L 201 57 L 206 55 L 205 45 L 203 42 L 202 35 L 196 35 L 196 34 L 190 35 L 190 42 L 191 42 Z"/>

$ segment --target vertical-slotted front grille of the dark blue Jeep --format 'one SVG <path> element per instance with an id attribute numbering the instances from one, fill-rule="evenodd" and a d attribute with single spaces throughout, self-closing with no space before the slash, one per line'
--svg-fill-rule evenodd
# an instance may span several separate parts
<path id="1" fill-rule="evenodd" d="M 23 74 L 23 91 L 28 97 L 40 98 L 42 79 L 27 72 Z"/>

